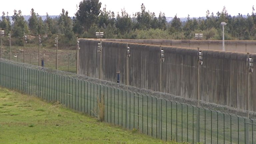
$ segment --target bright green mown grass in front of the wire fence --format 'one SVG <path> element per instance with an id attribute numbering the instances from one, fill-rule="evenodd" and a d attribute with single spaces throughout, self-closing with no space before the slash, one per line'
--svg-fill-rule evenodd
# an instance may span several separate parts
<path id="1" fill-rule="evenodd" d="M 0 106 L 0 143 L 166 143 L 3 88 Z"/>

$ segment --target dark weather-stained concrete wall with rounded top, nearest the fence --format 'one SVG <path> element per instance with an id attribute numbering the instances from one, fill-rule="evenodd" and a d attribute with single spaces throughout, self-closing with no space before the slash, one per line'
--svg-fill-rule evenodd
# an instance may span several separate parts
<path id="1" fill-rule="evenodd" d="M 79 74 L 116 82 L 116 73 L 120 72 L 122 84 L 198 99 L 197 49 L 102 41 L 102 52 L 97 53 L 99 40 L 79 40 Z M 249 74 L 247 54 L 201 51 L 199 99 L 243 110 L 247 110 L 249 101 L 250 111 L 256 111 L 256 72 Z M 250 57 L 255 59 L 256 54 Z"/>

